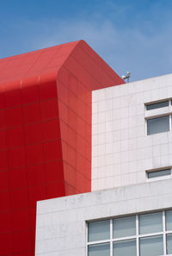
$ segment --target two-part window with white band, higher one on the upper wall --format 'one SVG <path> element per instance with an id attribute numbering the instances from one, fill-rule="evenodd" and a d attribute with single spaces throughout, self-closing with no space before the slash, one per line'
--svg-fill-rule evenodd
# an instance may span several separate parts
<path id="1" fill-rule="evenodd" d="M 145 105 L 147 135 L 171 130 L 172 102 L 149 103 Z"/>

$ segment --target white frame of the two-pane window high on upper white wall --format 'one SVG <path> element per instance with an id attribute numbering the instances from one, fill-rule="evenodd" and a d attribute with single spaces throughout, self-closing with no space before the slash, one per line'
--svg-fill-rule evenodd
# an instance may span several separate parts
<path id="1" fill-rule="evenodd" d="M 154 104 L 154 103 L 163 103 L 163 102 L 168 102 L 169 101 L 169 106 L 163 107 L 163 108 L 157 108 L 157 109 L 150 109 L 147 110 L 146 106 Z M 144 103 L 144 118 L 145 118 L 145 135 L 151 136 L 154 134 L 147 134 L 147 121 L 150 119 L 158 118 L 158 117 L 163 117 L 163 116 L 169 116 L 169 131 L 172 131 L 172 99 L 164 99 L 161 101 L 157 102 L 151 102 L 151 103 Z M 158 133 L 156 133 L 158 134 Z"/>

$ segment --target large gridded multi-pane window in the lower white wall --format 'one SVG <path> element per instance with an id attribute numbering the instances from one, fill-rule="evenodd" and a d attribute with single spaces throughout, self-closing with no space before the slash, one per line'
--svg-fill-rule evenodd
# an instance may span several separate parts
<path id="1" fill-rule="evenodd" d="M 87 256 L 172 254 L 172 209 L 88 222 Z"/>

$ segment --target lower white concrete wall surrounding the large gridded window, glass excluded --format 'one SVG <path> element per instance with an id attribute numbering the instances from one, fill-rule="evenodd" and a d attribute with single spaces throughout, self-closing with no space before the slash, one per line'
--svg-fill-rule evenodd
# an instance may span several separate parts
<path id="1" fill-rule="evenodd" d="M 86 221 L 170 209 L 171 197 L 169 179 L 40 201 L 35 255 L 86 256 Z"/>

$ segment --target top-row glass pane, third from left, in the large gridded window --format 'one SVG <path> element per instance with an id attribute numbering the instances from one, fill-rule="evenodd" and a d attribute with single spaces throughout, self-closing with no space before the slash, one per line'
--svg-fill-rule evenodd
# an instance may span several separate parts
<path id="1" fill-rule="evenodd" d="M 151 234 L 163 231 L 163 213 L 139 215 L 139 234 Z"/>

